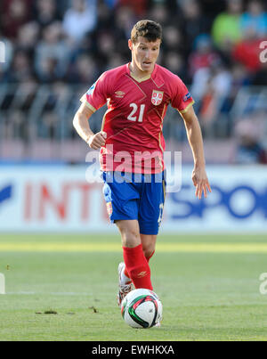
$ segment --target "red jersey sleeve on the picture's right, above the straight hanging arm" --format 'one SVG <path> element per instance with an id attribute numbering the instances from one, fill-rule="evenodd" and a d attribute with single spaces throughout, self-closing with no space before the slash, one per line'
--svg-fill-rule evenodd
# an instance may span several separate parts
<path id="1" fill-rule="evenodd" d="M 172 106 L 181 113 L 186 112 L 195 102 L 188 91 L 188 88 L 184 85 L 182 79 L 178 78 L 178 76 L 175 76 L 174 78 L 172 89 L 174 89 L 171 102 Z"/>

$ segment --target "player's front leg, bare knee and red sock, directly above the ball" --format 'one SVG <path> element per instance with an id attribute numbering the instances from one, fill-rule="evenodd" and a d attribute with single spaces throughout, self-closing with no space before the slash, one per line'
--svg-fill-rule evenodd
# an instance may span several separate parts
<path id="1" fill-rule="evenodd" d="M 116 221 L 121 233 L 123 256 L 129 277 L 134 287 L 152 290 L 150 265 L 142 250 L 142 241 L 137 220 Z"/>

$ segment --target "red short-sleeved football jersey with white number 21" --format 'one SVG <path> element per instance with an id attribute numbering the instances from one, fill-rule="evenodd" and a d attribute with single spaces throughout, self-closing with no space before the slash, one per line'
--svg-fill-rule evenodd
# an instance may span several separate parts
<path id="1" fill-rule="evenodd" d="M 194 103 L 181 78 L 155 65 L 148 78 L 138 80 L 129 64 L 104 72 L 81 101 L 94 111 L 107 103 L 101 130 L 103 171 L 158 173 L 164 169 L 162 135 L 167 106 L 185 112 Z"/>

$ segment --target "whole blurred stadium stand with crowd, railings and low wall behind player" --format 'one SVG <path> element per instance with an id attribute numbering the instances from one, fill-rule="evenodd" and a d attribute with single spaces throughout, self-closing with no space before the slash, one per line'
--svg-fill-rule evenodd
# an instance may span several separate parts
<path id="1" fill-rule="evenodd" d="M 103 71 L 130 61 L 129 32 L 143 18 L 164 27 L 158 62 L 190 87 L 206 160 L 242 162 L 247 121 L 260 129 L 254 143 L 266 149 L 267 59 L 259 55 L 267 40 L 263 2 L 3 0 L 0 8 L 2 161 L 85 158 L 88 148 L 72 127 L 79 98 Z M 101 127 L 104 110 L 93 115 L 93 130 Z M 181 149 L 190 161 L 182 119 L 169 109 L 165 122 L 166 149 Z M 266 157 L 251 160 L 265 163 Z"/>

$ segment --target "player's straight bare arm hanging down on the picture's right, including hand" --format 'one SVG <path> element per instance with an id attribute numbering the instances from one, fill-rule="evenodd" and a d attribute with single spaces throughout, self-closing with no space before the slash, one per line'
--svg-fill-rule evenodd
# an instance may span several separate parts
<path id="1" fill-rule="evenodd" d="M 188 141 L 194 158 L 192 181 L 196 187 L 196 197 L 200 200 L 202 192 L 206 198 L 207 190 L 211 192 L 210 184 L 206 175 L 206 161 L 204 155 L 203 138 L 197 115 L 190 106 L 186 111 L 180 112 L 187 132 Z"/>

